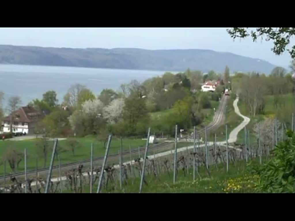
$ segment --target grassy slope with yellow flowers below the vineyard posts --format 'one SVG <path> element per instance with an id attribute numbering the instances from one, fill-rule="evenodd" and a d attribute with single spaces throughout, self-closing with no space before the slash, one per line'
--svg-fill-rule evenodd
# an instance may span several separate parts
<path id="1" fill-rule="evenodd" d="M 257 163 L 254 160 L 254 163 Z M 236 165 L 229 164 L 229 172 L 226 172 L 225 164 L 219 164 L 218 169 L 215 166 L 210 168 L 211 178 L 208 177 L 203 167 L 200 167 L 199 176 L 196 174 L 196 180 L 193 181 L 193 170 L 189 170 L 189 176 L 184 176 L 181 169 L 178 171 L 177 181 L 173 184 L 173 173 L 170 171 L 162 172 L 159 179 L 146 174 L 147 185 L 143 185 L 142 192 L 146 193 L 230 193 L 230 192 L 254 192 L 253 181 L 255 177 L 250 175 L 246 170 L 245 161 L 239 161 Z M 111 184 L 108 190 L 105 188 L 101 192 L 113 193 L 137 193 L 139 191 L 140 178 L 136 177 L 127 180 L 127 185 L 124 185 L 123 190 L 119 189 L 119 182 L 117 182 L 116 189 L 111 191 Z M 96 192 L 97 185 L 93 187 L 93 192 Z M 64 192 L 71 192 L 70 190 Z M 89 193 L 89 186 L 83 187 L 83 192 Z"/>

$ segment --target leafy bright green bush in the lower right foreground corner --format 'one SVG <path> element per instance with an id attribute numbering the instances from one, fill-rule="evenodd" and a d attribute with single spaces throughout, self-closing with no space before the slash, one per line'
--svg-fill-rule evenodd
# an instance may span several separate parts
<path id="1" fill-rule="evenodd" d="M 287 139 L 272 150 L 270 160 L 261 166 L 252 166 L 258 175 L 256 192 L 295 192 L 295 136 L 292 131 L 287 131 L 286 135 Z"/>

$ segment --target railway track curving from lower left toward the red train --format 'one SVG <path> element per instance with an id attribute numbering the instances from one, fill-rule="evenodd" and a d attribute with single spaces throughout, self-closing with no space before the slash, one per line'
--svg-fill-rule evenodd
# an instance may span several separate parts
<path id="1" fill-rule="evenodd" d="M 227 103 L 226 101 L 227 101 L 227 97 L 223 96 L 222 99 L 220 100 L 220 104 L 219 104 L 219 107 L 218 107 L 218 109 L 216 111 L 216 114 L 214 116 L 213 121 L 206 126 L 207 131 L 210 131 L 210 130 L 214 129 L 216 126 L 218 126 L 218 124 L 222 120 L 222 116 L 223 116 L 225 108 L 226 108 L 226 103 Z M 196 134 L 198 135 L 198 134 L 204 133 L 204 131 L 205 131 L 205 128 L 197 131 Z M 178 141 L 182 141 L 182 140 L 185 141 L 190 137 L 192 137 L 192 136 L 191 135 L 184 136 L 182 138 L 179 138 Z M 171 141 L 165 141 L 165 142 L 161 142 L 159 144 L 154 144 L 153 146 L 150 146 L 149 149 L 155 149 L 157 147 L 164 147 L 164 146 L 169 145 L 169 144 L 171 144 Z M 145 150 L 145 147 L 140 148 L 140 151 L 144 151 L 144 150 Z M 138 149 L 132 149 L 131 150 L 131 153 L 137 153 L 137 152 L 138 152 Z M 123 156 L 128 155 L 128 154 L 130 154 L 130 151 L 123 151 L 122 152 Z M 108 158 L 109 157 L 118 157 L 118 154 L 109 154 Z M 104 156 L 95 157 L 95 158 L 93 158 L 93 162 L 103 160 L 103 159 L 104 159 Z M 90 163 L 90 159 L 82 160 L 82 161 L 76 161 L 76 162 L 72 162 L 72 163 L 61 164 L 60 168 L 62 169 L 62 168 L 69 167 L 69 166 L 78 166 L 79 164 L 85 164 L 85 163 Z M 58 169 L 58 168 L 59 168 L 58 165 L 53 166 L 53 170 Z M 40 168 L 40 169 L 37 169 L 37 172 L 40 173 L 40 172 L 48 171 L 48 169 L 49 169 L 49 167 Z M 30 175 L 30 174 L 36 174 L 36 170 L 28 170 L 27 175 Z M 17 172 L 17 173 L 14 173 L 12 175 L 15 176 L 15 177 L 24 176 L 24 172 Z M 8 176 L 6 176 L 6 177 L 8 177 Z M 4 175 L 0 176 L 1 181 L 2 181 L 2 179 L 4 179 Z"/>

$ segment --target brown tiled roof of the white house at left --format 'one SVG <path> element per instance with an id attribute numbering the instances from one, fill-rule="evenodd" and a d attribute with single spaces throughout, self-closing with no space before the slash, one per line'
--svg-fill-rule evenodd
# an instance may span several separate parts
<path id="1" fill-rule="evenodd" d="M 31 123 L 38 121 L 44 114 L 31 106 L 25 106 L 14 111 L 13 116 L 13 122 Z M 10 121 L 10 115 L 6 116 L 4 121 Z"/>

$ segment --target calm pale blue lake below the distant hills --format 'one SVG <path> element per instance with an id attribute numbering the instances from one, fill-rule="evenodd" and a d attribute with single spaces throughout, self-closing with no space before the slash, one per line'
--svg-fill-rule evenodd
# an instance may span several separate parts
<path id="1" fill-rule="evenodd" d="M 0 65 L 0 91 L 5 94 L 4 106 L 10 96 L 20 96 L 22 105 L 42 98 L 47 90 L 55 90 L 59 103 L 71 85 L 79 83 L 99 95 L 104 88 L 118 90 L 122 83 L 140 82 L 165 71 L 121 70 L 83 67 L 31 65 Z"/>

